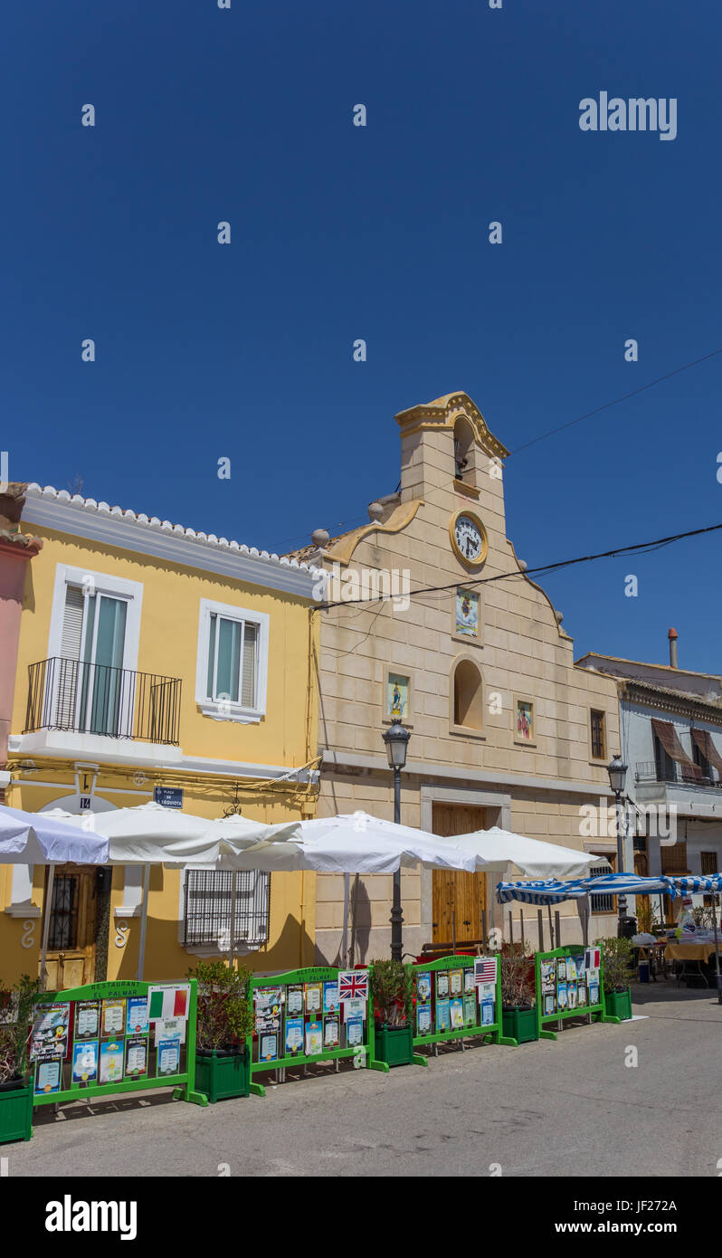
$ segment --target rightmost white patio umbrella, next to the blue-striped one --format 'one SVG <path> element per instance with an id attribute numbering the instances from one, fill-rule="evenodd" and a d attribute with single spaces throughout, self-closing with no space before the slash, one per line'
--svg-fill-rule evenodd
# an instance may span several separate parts
<path id="1" fill-rule="evenodd" d="M 474 854 L 479 862 L 477 868 L 487 873 L 506 873 L 509 866 L 516 866 L 527 878 L 580 878 L 600 863 L 600 858 L 589 852 L 562 848 L 543 839 L 528 839 L 498 825 L 472 834 L 454 834 L 439 842 Z"/>

